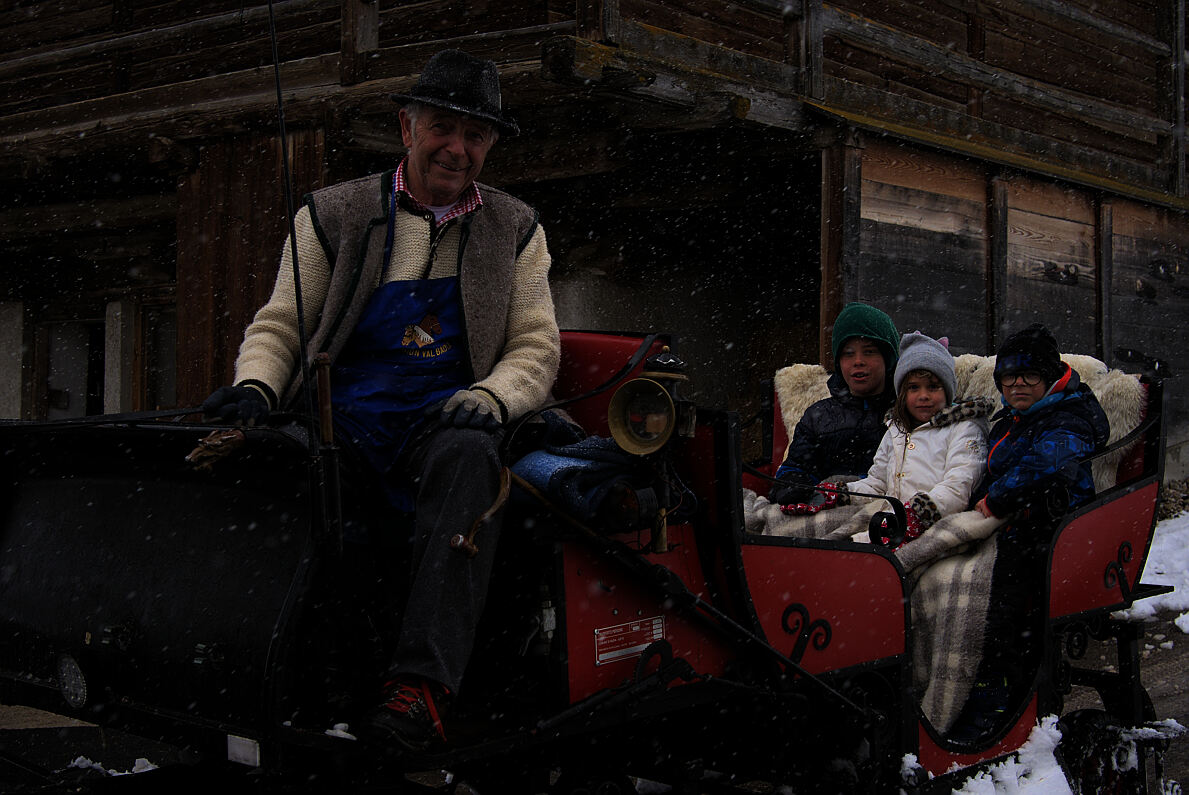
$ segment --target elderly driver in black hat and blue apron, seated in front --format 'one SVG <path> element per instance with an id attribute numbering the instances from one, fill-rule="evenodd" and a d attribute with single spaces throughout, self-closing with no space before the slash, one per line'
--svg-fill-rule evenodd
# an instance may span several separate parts
<path id="1" fill-rule="evenodd" d="M 333 361 L 336 434 L 389 503 L 415 512 L 409 600 L 370 723 L 420 751 L 445 740 L 441 707 L 471 655 L 496 547 L 493 530 L 473 559 L 449 540 L 496 501 L 501 429 L 546 400 L 560 335 L 536 213 L 476 183 L 499 135 L 518 132 L 495 63 L 439 52 L 392 99 L 408 156 L 308 196 L 296 245 L 308 349 Z M 207 399 L 207 416 L 252 424 L 295 402 L 294 296 L 287 242 L 235 385 Z"/>

